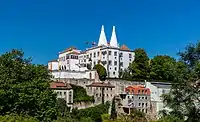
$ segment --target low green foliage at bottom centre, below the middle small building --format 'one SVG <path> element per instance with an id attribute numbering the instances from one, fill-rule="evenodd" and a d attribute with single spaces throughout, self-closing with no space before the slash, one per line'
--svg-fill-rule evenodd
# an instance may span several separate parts
<path id="1" fill-rule="evenodd" d="M 101 121 L 101 115 L 108 113 L 109 106 L 110 104 L 106 102 L 106 104 L 100 104 L 86 109 L 73 109 L 72 116 L 78 120 L 80 120 L 81 117 L 90 117 L 93 121 Z"/>

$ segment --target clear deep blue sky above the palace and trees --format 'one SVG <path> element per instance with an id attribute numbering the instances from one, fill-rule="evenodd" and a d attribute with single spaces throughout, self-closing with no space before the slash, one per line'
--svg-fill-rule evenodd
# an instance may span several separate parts
<path id="1" fill-rule="evenodd" d="M 0 0 L 0 54 L 22 49 L 46 64 L 69 46 L 84 49 L 107 39 L 116 26 L 120 44 L 144 48 L 149 57 L 177 57 L 200 39 L 199 0 Z"/>

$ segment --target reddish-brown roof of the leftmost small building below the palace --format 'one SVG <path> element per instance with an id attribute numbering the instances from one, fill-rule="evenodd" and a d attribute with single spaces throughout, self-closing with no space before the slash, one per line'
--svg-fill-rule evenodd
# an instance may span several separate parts
<path id="1" fill-rule="evenodd" d="M 71 89 L 71 85 L 64 82 L 52 82 L 50 83 L 51 89 Z"/>

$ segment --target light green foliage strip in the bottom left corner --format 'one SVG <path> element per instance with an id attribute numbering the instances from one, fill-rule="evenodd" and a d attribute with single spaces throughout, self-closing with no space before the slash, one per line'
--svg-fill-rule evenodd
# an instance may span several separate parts
<path id="1" fill-rule="evenodd" d="M 0 116 L 0 122 L 39 122 L 39 120 L 30 116 L 11 114 Z"/>

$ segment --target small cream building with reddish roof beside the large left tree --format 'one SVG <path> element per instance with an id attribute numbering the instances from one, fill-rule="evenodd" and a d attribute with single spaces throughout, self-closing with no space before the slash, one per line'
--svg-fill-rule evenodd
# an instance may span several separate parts
<path id="1" fill-rule="evenodd" d="M 73 105 L 73 89 L 70 84 L 64 82 L 52 82 L 50 88 L 57 93 L 57 98 L 62 98 L 66 101 L 68 107 Z"/>

